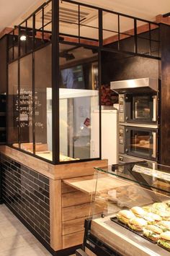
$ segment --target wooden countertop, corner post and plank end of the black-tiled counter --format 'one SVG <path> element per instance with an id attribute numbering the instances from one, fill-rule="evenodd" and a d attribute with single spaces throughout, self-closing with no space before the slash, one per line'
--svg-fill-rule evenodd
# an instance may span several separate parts
<path id="1" fill-rule="evenodd" d="M 82 244 L 84 219 L 89 217 L 91 190 L 89 189 L 89 193 L 85 194 L 84 189 L 70 186 L 68 179 L 72 179 L 73 182 L 79 177 L 85 181 L 90 178 L 90 186 L 92 186 L 94 167 L 107 166 L 107 160 L 53 165 L 8 146 L 0 146 L 0 153 L 48 177 L 50 184 L 50 247 L 56 252 Z M 100 210 L 98 209 L 99 212 Z"/>

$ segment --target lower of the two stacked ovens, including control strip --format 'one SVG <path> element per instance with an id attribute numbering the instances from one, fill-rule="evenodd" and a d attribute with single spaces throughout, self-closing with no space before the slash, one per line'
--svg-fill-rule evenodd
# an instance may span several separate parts
<path id="1" fill-rule="evenodd" d="M 119 126 L 119 152 L 144 158 L 158 160 L 158 129 L 155 126 L 138 127 L 130 125 Z"/>

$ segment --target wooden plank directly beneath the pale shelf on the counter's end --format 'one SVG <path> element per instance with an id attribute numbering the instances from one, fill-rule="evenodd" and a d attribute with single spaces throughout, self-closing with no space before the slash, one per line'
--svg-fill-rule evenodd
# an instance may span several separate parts
<path id="1" fill-rule="evenodd" d="M 79 205 L 80 203 L 91 202 L 91 196 L 84 192 L 76 191 L 62 195 L 62 207 Z"/>

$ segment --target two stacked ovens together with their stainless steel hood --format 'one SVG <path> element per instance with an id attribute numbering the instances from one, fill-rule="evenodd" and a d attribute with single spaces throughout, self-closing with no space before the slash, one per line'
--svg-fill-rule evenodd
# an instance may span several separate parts
<path id="1" fill-rule="evenodd" d="M 158 80 L 111 82 L 119 93 L 119 159 L 158 160 Z M 127 158 L 129 159 L 129 158 Z"/>

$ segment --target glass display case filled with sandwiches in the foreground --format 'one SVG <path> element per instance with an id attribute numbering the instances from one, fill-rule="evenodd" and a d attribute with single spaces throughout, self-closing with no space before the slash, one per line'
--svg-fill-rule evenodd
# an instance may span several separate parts
<path id="1" fill-rule="evenodd" d="M 169 255 L 170 167 L 139 161 L 95 169 L 85 247 L 95 255 Z"/>

